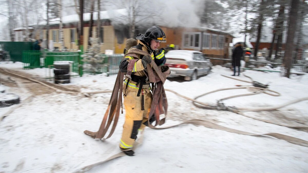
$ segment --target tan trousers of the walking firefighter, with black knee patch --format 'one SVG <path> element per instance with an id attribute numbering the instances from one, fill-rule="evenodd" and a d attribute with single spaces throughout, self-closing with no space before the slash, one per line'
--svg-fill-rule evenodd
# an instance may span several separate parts
<path id="1" fill-rule="evenodd" d="M 126 92 L 125 92 L 126 89 Z M 120 149 L 122 151 L 132 150 L 137 139 L 139 130 L 144 130 L 144 123 L 148 121 L 150 108 L 152 104 L 152 93 L 148 88 L 144 88 L 144 110 L 142 107 L 142 93 L 137 96 L 138 89 L 123 86 L 124 106 L 125 106 L 125 123 L 123 125 L 122 138 L 120 140 Z"/>

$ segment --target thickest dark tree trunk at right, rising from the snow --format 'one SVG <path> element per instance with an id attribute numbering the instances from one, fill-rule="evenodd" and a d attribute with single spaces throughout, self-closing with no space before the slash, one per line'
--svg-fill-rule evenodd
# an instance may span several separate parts
<path id="1" fill-rule="evenodd" d="M 290 78 L 290 69 L 292 63 L 292 53 L 293 53 L 293 45 L 294 45 L 294 33 L 296 29 L 296 22 L 297 22 L 297 11 L 298 11 L 298 3 L 299 0 L 292 0 L 291 2 L 291 10 L 290 10 L 290 19 L 288 25 L 288 36 L 286 41 L 286 51 L 284 57 L 284 67 L 286 68 L 285 77 Z"/>

